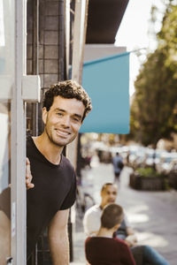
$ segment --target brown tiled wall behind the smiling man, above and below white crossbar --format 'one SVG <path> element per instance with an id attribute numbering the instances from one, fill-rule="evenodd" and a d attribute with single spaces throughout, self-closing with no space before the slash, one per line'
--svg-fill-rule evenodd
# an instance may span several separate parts
<path id="1" fill-rule="evenodd" d="M 38 7 L 37 7 L 38 4 Z M 39 74 L 42 96 L 65 79 L 64 0 L 27 1 L 27 74 Z M 42 133 L 42 104 L 27 103 L 27 132 Z"/>

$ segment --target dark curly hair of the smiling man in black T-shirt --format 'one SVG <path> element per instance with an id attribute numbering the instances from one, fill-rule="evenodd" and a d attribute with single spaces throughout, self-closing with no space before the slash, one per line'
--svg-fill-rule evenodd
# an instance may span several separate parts
<path id="1" fill-rule="evenodd" d="M 82 120 L 88 115 L 89 111 L 92 110 L 89 95 L 84 88 L 74 80 L 65 80 L 51 85 L 50 89 L 46 91 L 44 95 L 42 106 L 49 111 L 51 105 L 53 104 L 54 97 L 58 95 L 64 98 L 75 98 L 83 103 L 85 111 Z"/>

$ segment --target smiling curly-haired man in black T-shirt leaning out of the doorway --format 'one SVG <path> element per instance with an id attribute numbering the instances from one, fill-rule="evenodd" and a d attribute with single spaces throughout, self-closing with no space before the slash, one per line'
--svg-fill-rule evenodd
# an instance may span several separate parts
<path id="1" fill-rule="evenodd" d="M 27 139 L 27 259 L 48 226 L 53 265 L 69 264 L 67 221 L 76 196 L 71 163 L 62 155 L 91 110 L 89 95 L 73 80 L 50 87 L 45 93 L 40 136 Z M 31 183 L 31 178 L 32 182 Z"/>

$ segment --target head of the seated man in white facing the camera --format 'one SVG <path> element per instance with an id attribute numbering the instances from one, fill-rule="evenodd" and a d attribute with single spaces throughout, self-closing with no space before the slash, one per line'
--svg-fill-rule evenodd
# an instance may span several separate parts
<path id="1" fill-rule="evenodd" d="M 117 186 L 109 185 L 104 188 L 104 191 L 101 193 L 102 197 L 102 207 L 109 203 L 114 203 L 117 198 Z"/>

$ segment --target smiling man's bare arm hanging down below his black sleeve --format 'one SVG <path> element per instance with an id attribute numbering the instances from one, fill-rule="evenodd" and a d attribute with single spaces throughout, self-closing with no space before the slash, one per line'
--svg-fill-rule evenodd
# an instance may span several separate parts
<path id="1" fill-rule="evenodd" d="M 50 221 L 48 237 L 53 265 L 69 264 L 68 216 L 69 209 L 59 210 Z"/>

